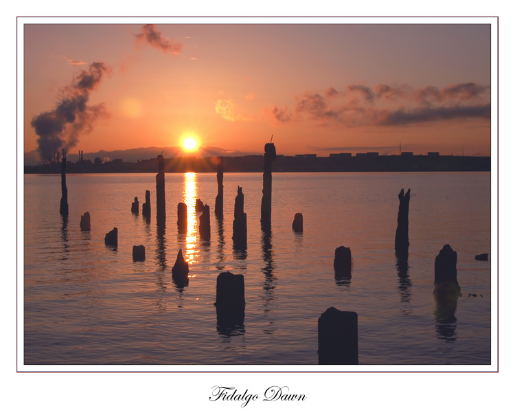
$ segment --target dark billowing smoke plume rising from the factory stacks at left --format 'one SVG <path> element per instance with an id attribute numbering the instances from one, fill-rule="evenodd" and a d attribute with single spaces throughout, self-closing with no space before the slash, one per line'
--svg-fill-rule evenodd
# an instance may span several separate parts
<path id="1" fill-rule="evenodd" d="M 88 133 L 99 116 L 105 116 L 104 104 L 88 105 L 89 94 L 110 69 L 104 63 L 94 62 L 83 69 L 62 91 L 62 99 L 52 111 L 45 111 L 30 123 L 38 135 L 39 156 L 44 161 L 54 157 L 61 148 L 76 146 L 80 133 Z"/>

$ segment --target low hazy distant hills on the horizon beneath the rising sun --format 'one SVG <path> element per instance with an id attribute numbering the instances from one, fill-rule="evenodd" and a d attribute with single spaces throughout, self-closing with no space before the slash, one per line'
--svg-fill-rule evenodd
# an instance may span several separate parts
<path id="1" fill-rule="evenodd" d="M 100 150 L 96 153 L 84 153 L 84 160 L 93 160 L 96 157 L 100 157 L 100 159 L 122 159 L 123 161 L 134 163 L 138 160 L 148 160 L 155 159 L 158 155 L 163 152 L 163 157 L 165 159 L 171 159 L 174 157 L 184 157 L 187 153 L 184 153 L 181 147 L 140 147 L 140 148 L 130 148 L 129 150 L 113 150 L 113 151 L 105 151 Z M 192 154 L 195 157 L 211 157 L 211 156 L 226 156 L 226 157 L 236 157 L 236 156 L 244 156 L 244 155 L 261 155 L 262 153 L 244 153 L 238 150 L 225 150 L 224 148 L 219 147 L 201 147 L 199 150 Z M 67 154 L 67 160 L 74 162 L 78 161 L 79 155 L 78 150 L 74 153 Z M 36 150 L 32 150 L 29 153 L 24 153 L 24 165 L 25 166 L 38 166 L 40 164 L 40 159 Z"/>

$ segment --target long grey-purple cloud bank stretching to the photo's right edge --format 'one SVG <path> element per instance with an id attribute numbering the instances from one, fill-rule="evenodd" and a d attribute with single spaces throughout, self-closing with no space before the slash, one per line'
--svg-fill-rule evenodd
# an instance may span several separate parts
<path id="1" fill-rule="evenodd" d="M 273 106 L 269 115 L 277 122 L 308 117 L 321 125 L 393 126 L 422 124 L 440 120 L 481 118 L 490 120 L 490 86 L 474 82 L 459 83 L 438 89 L 432 85 L 412 88 L 347 85 L 338 90 L 328 87 L 320 93 L 297 96 L 295 110 Z"/>

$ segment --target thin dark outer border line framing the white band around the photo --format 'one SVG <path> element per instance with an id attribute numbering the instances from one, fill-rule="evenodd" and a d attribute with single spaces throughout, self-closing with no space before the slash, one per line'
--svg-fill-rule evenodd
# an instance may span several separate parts
<path id="1" fill-rule="evenodd" d="M 478 19 L 496 19 L 497 22 L 497 370 L 487 370 L 487 371 L 411 371 L 411 370 L 396 370 L 396 371 L 145 371 L 145 370 L 137 370 L 137 371 L 67 371 L 67 370 L 51 370 L 51 371 L 34 371 L 34 370 L 19 370 L 18 368 L 18 19 L 19 18 L 49 18 L 49 19 L 87 19 L 87 18 L 96 18 L 96 19 L 127 19 L 127 18 L 192 18 L 192 19 L 260 19 L 260 18 L 285 18 L 285 19 L 298 19 L 298 18 L 306 18 L 306 19 L 353 19 L 356 17 L 362 17 L 366 19 L 398 19 L 398 18 L 406 18 L 406 19 L 470 19 L 470 18 L 478 18 Z M 84 23 L 90 24 L 90 23 Z M 179 24 L 179 23 L 177 23 Z M 258 23 L 254 23 L 258 24 Z M 277 24 L 277 23 L 273 23 Z M 299 23 L 301 24 L 301 23 Z M 336 24 L 336 23 L 335 23 Z M 340 24 L 350 24 L 350 23 L 340 23 Z M 361 23 L 366 24 L 366 23 Z M 395 23 L 387 23 L 387 24 L 395 24 Z M 432 23 L 428 23 L 432 24 Z M 16 16 L 16 373 L 499 373 L 499 16 Z M 490 363 L 491 365 L 492 363 Z M 44 365 L 43 365 L 44 366 Z M 87 365 L 86 365 L 87 366 Z M 91 365 L 90 365 L 91 366 Z M 223 366 L 223 365 L 222 365 Z M 315 365 L 312 365 L 315 366 Z M 381 366 L 381 365 L 379 365 Z M 413 365 L 418 366 L 418 365 Z M 433 365 L 431 365 L 433 366 Z"/>

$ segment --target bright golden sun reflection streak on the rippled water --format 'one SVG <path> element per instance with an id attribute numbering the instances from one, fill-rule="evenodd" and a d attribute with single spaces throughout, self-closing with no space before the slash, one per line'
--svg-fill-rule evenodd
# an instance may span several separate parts
<path id="1" fill-rule="evenodd" d="M 198 199 L 198 187 L 196 173 L 184 173 L 184 203 L 187 206 L 187 232 L 186 232 L 186 251 L 184 259 L 193 264 L 198 262 L 200 249 L 198 249 L 197 217 L 195 212 L 195 201 Z"/>

